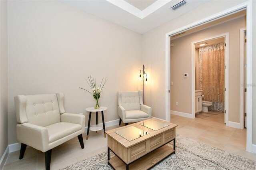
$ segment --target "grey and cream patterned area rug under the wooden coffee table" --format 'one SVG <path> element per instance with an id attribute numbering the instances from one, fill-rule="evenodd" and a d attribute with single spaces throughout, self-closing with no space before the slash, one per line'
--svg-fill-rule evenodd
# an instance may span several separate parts
<path id="1" fill-rule="evenodd" d="M 168 156 L 152 170 L 255 170 L 255 167 L 253 160 L 176 134 L 176 154 Z M 62 170 L 112 170 L 112 167 L 107 164 L 106 151 Z"/>

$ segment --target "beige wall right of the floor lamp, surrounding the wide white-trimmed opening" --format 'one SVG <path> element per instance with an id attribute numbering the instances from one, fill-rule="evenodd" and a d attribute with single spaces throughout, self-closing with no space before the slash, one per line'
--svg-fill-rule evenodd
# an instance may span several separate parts
<path id="1" fill-rule="evenodd" d="M 148 105 L 152 106 L 152 115 L 155 117 L 158 117 L 160 119 L 165 119 L 165 35 L 168 32 L 171 32 L 173 30 L 176 30 L 178 28 L 181 28 L 183 26 L 186 26 L 188 24 L 191 24 L 193 22 L 196 22 L 200 19 L 206 18 L 208 16 L 211 16 L 213 14 L 216 14 L 218 12 L 222 12 L 228 8 L 231 8 L 233 6 L 236 6 L 238 4 L 243 3 L 244 1 L 222 1 L 222 4 L 216 4 L 216 1 L 210 1 L 206 4 L 203 4 L 202 6 L 189 11 L 188 13 L 171 20 L 170 22 L 167 22 L 166 24 L 163 24 L 161 26 L 158 26 L 157 28 L 154 28 L 150 30 L 149 32 L 146 32 L 142 35 L 142 62 L 145 64 L 150 65 L 148 67 L 148 70 L 151 72 L 151 79 L 154 80 L 154 86 L 148 91 L 150 93 L 145 93 L 145 98 L 150 98 L 150 103 Z M 256 10 L 255 2 L 253 6 L 254 14 Z M 254 35 L 253 35 L 253 47 L 256 46 L 256 28 L 255 28 L 255 20 L 256 15 L 254 15 L 253 22 L 254 22 Z M 254 51 L 252 53 L 252 56 L 256 56 L 256 51 L 254 48 Z M 255 57 L 253 61 L 253 65 L 256 65 Z M 255 67 L 253 67 L 254 71 L 254 80 L 253 83 L 256 83 L 256 71 Z M 154 88 L 158 87 L 158 89 Z M 254 87 L 254 99 L 253 103 L 256 103 L 256 90 Z M 191 103 L 188 103 L 188 105 L 191 105 Z M 253 110 L 253 117 L 254 120 L 256 119 L 256 107 L 254 105 Z M 230 120 L 231 121 L 231 120 Z M 254 121 L 255 122 L 255 121 Z M 256 144 L 256 125 L 254 125 L 253 128 L 253 141 L 254 144 Z"/>

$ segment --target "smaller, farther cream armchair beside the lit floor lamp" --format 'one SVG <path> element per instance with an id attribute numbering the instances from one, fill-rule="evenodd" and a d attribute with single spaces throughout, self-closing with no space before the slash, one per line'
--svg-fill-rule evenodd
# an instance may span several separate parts
<path id="1" fill-rule="evenodd" d="M 131 122 L 144 121 L 151 118 L 152 108 L 143 104 L 142 91 L 118 91 L 118 116 L 121 121 L 128 125 Z"/>

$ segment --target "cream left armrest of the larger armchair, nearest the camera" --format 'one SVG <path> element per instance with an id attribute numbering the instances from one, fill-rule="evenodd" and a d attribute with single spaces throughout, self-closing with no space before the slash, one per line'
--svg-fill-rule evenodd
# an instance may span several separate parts
<path id="1" fill-rule="evenodd" d="M 48 150 L 49 135 L 47 128 L 23 123 L 16 126 L 16 133 L 19 142 L 32 146 L 42 152 Z"/>

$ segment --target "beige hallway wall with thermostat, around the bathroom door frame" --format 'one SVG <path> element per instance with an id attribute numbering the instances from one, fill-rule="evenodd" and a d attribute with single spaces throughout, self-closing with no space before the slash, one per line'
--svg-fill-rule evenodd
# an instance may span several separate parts
<path id="1" fill-rule="evenodd" d="M 191 114 L 191 81 L 192 76 L 183 77 L 183 73 L 191 74 L 191 43 L 229 32 L 229 119 L 240 121 L 240 28 L 246 27 L 246 17 L 210 27 L 187 36 L 171 40 L 171 110 Z M 182 91 L 182 95 L 180 92 Z M 194 91 L 192 91 L 194 93 Z M 179 102 L 179 106 L 176 106 Z M 190 103 L 190 105 L 188 104 Z"/>

